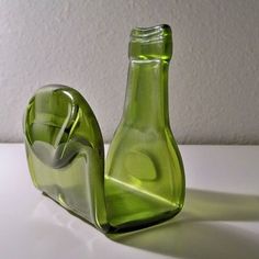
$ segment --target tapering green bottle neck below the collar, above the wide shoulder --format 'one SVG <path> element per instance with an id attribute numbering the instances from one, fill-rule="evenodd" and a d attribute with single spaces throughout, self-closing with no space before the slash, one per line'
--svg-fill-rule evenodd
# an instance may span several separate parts
<path id="1" fill-rule="evenodd" d="M 168 65 L 162 59 L 131 59 L 124 123 L 138 128 L 169 125 Z"/>

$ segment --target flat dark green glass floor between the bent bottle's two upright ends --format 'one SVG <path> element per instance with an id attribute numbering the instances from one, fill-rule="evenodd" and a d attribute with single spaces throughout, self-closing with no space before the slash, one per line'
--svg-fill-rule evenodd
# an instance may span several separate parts
<path id="1" fill-rule="evenodd" d="M 108 177 L 105 200 L 110 233 L 126 233 L 149 227 L 172 218 L 182 209 L 181 203 Z"/>

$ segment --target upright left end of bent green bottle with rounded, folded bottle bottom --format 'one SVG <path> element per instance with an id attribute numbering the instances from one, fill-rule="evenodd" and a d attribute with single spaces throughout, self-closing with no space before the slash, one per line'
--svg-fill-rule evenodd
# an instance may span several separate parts
<path id="1" fill-rule="evenodd" d="M 35 187 L 105 232 L 103 140 L 82 95 L 65 86 L 41 88 L 27 105 L 23 130 Z"/>

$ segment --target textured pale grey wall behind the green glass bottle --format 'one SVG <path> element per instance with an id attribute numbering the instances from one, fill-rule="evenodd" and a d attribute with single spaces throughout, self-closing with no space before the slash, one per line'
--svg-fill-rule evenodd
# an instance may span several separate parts
<path id="1" fill-rule="evenodd" d="M 128 34 L 168 23 L 171 126 L 184 144 L 259 144 L 259 1 L 0 0 L 0 142 L 22 140 L 30 97 L 78 89 L 105 142 L 120 121 Z"/>

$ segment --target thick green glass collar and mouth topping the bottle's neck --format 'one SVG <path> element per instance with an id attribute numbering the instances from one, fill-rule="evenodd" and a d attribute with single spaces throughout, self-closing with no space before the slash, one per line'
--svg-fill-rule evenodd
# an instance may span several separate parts
<path id="1" fill-rule="evenodd" d="M 132 30 L 128 46 L 128 57 L 131 59 L 170 60 L 171 56 L 172 36 L 169 25 L 161 24 Z"/>

